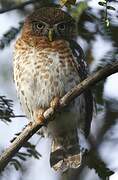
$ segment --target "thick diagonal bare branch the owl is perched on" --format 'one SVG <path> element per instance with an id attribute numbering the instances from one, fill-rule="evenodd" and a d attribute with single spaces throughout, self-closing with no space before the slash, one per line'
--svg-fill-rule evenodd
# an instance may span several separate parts
<path id="1" fill-rule="evenodd" d="M 97 71 L 93 75 L 90 75 L 80 84 L 72 88 L 65 96 L 60 99 L 60 106 L 56 109 L 61 109 L 69 104 L 74 98 L 82 94 L 87 88 L 95 85 L 100 80 L 105 79 L 113 73 L 118 72 L 118 62 L 113 62 L 112 64 L 107 65 L 101 70 Z M 7 148 L 0 157 L 0 171 L 2 171 L 7 164 L 10 162 L 12 157 L 18 150 L 27 142 L 27 140 L 33 136 L 42 126 L 45 126 L 49 123 L 50 118 L 54 115 L 54 110 L 50 107 L 44 112 L 44 122 L 40 124 L 38 122 L 30 122 L 26 128 L 21 132 L 21 134 L 13 141 L 9 148 Z"/>

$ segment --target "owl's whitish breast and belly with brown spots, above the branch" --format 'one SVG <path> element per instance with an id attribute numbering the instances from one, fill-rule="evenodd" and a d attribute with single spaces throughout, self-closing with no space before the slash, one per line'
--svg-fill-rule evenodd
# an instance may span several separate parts
<path id="1" fill-rule="evenodd" d="M 61 42 L 16 51 L 14 78 L 20 100 L 27 101 L 29 109 L 48 107 L 55 96 L 62 97 L 79 83 L 75 61 L 71 49 Z"/>

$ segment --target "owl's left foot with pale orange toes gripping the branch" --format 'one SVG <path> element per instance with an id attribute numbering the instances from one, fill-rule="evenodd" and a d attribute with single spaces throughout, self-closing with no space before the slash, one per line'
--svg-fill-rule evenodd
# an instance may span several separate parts
<path id="1" fill-rule="evenodd" d="M 36 110 L 36 118 L 35 118 L 35 121 L 40 123 L 40 124 L 43 124 L 44 123 L 44 116 L 43 116 L 43 113 L 45 112 L 44 109 L 40 108 L 38 110 Z"/>

